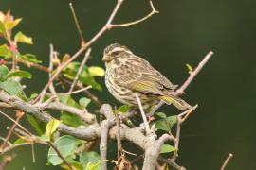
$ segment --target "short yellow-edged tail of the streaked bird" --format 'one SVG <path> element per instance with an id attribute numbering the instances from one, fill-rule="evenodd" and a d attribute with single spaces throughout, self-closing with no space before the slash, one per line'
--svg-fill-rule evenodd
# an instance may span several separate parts
<path id="1" fill-rule="evenodd" d="M 178 110 L 192 109 L 191 105 L 175 95 L 162 95 L 159 98 L 168 105 L 173 104 Z"/>

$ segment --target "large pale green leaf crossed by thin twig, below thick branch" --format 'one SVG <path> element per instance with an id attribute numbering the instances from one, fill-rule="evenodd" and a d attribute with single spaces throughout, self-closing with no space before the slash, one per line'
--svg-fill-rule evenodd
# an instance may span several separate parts
<path id="1" fill-rule="evenodd" d="M 73 158 L 75 156 L 77 144 L 78 140 L 69 135 L 64 135 L 54 142 L 54 145 L 60 151 L 64 159 L 68 157 Z M 63 163 L 63 160 L 58 156 L 52 147 L 50 147 L 48 151 L 47 159 L 52 165 L 59 165 Z"/>

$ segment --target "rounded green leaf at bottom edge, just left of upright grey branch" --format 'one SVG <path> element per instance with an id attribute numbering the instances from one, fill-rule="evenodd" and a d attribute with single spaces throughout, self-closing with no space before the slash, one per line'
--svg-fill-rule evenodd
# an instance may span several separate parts
<path id="1" fill-rule="evenodd" d="M 91 151 L 91 152 L 86 152 L 83 151 L 82 154 L 80 155 L 79 161 L 82 163 L 84 167 L 87 167 L 88 164 L 90 166 L 95 166 L 95 168 L 98 170 L 101 169 L 101 158 L 100 155 L 97 152 Z M 86 169 L 86 168 L 85 168 Z"/>

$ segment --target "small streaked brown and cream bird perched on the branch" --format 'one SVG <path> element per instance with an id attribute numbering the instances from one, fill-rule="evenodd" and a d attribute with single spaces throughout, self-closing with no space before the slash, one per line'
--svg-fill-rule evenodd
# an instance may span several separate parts
<path id="1" fill-rule="evenodd" d="M 161 100 L 178 110 L 192 108 L 174 94 L 176 85 L 127 46 L 119 43 L 106 46 L 102 61 L 106 67 L 106 87 L 120 103 L 138 108 L 138 96 L 144 110 L 152 110 Z"/>

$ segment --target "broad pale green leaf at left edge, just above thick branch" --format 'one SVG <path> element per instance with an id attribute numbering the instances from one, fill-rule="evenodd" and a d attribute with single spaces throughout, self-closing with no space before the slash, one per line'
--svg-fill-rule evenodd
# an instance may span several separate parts
<path id="1" fill-rule="evenodd" d="M 23 93 L 22 86 L 19 82 L 9 79 L 7 81 L 0 81 L 0 89 L 3 89 L 7 93 L 11 95 L 17 95 L 19 93 Z"/>

